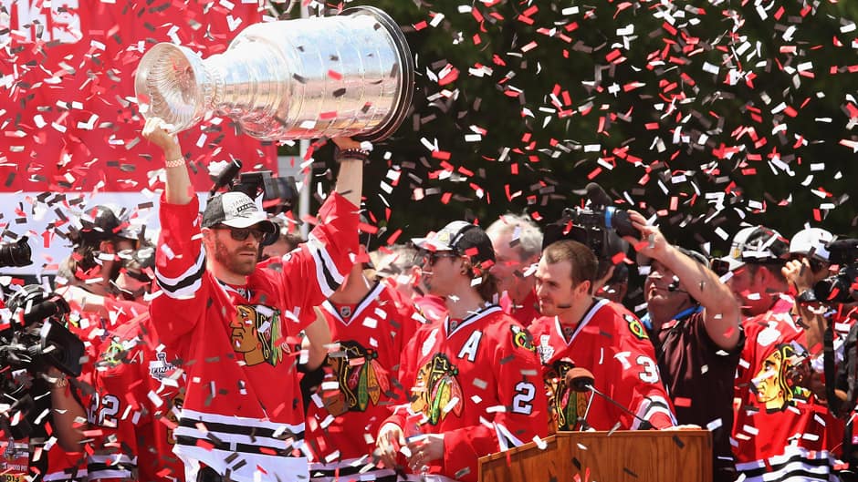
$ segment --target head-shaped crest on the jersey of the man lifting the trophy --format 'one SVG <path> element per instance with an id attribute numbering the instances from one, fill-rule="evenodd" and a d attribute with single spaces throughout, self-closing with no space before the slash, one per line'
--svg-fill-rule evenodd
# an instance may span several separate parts
<path id="1" fill-rule="evenodd" d="M 261 363 L 277 366 L 283 360 L 285 342 L 281 339 L 277 310 L 265 305 L 240 304 L 229 327 L 233 350 L 244 355 L 247 366 Z"/>

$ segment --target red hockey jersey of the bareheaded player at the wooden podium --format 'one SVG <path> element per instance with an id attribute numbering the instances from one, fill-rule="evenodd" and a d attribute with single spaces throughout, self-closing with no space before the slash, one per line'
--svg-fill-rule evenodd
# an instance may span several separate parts
<path id="1" fill-rule="evenodd" d="M 556 317 L 542 317 L 530 325 L 549 397 L 550 426 L 577 430 L 585 415 L 587 425 L 596 430 L 612 430 L 617 424 L 624 430 L 641 426 L 601 396 L 570 390 L 564 377 L 576 366 L 592 372 L 596 390 L 655 428 L 674 426 L 673 405 L 643 324 L 622 305 L 597 300 L 572 333 L 563 333 Z"/>

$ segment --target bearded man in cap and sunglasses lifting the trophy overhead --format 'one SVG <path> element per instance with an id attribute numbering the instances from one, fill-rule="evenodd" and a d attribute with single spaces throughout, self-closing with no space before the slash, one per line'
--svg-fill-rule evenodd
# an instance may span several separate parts
<path id="1" fill-rule="evenodd" d="M 296 456 L 304 410 L 293 345 L 357 254 L 361 159 L 369 153 L 335 139 L 340 174 L 319 224 L 284 257 L 283 272 L 257 270 L 274 224 L 241 192 L 209 200 L 201 223 L 182 150 L 167 128 L 150 118 L 143 137 L 162 149 L 166 168 L 152 323 L 188 376 L 174 452 L 189 480 L 309 477 L 307 459 Z"/>

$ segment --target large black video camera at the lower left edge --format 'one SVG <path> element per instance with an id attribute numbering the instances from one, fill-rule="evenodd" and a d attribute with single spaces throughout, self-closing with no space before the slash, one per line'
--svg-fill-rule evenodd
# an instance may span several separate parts
<path id="1" fill-rule="evenodd" d="M 44 395 L 31 395 L 34 381 L 51 367 L 78 376 L 85 349 L 63 324 L 69 308 L 58 294 L 29 284 L 9 298 L 6 308 L 11 314 L 0 331 L 0 431 L 5 438 L 20 439 L 31 435 L 30 415 L 39 415 L 31 413 L 34 399 Z M 12 405 L 3 406 L 8 402 Z"/>

